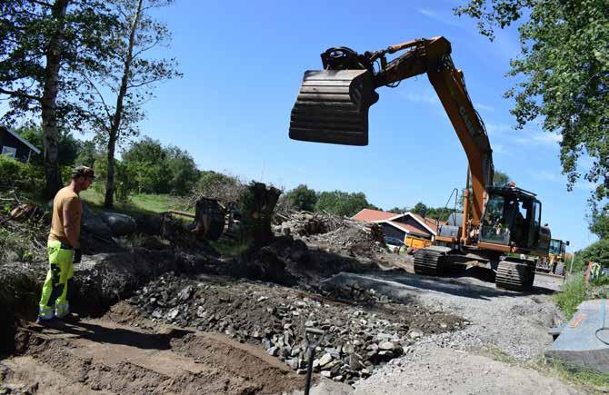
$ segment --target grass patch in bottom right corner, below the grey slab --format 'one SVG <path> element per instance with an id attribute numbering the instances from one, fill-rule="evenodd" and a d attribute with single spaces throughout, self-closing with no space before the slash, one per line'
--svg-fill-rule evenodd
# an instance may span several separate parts
<path id="1" fill-rule="evenodd" d="M 567 365 L 558 360 L 543 358 L 531 365 L 546 376 L 556 377 L 589 393 L 609 390 L 609 373 L 601 373 L 583 366 Z"/>

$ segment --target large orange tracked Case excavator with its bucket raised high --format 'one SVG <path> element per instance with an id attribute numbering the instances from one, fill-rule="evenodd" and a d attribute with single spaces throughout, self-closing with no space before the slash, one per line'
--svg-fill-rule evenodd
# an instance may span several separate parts
<path id="1" fill-rule="evenodd" d="M 395 54 L 387 60 L 388 54 Z M 533 287 L 534 260 L 546 256 L 550 229 L 542 226 L 542 203 L 514 183 L 494 186 L 493 150 L 484 123 L 454 67 L 451 44 L 442 37 L 415 39 L 358 54 L 333 47 L 321 54 L 323 70 L 304 73 L 292 109 L 291 139 L 345 145 L 368 144 L 368 110 L 380 87 L 427 74 L 463 145 L 468 162 L 464 209 L 439 226 L 435 245 L 414 254 L 414 272 L 439 275 L 472 264 L 494 272 L 499 288 Z"/>

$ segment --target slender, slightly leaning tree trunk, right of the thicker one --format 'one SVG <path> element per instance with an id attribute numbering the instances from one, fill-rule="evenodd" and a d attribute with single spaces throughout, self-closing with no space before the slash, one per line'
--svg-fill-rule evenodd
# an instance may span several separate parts
<path id="1" fill-rule="evenodd" d="M 110 136 L 108 139 L 108 174 L 105 181 L 105 199 L 104 206 L 110 208 L 114 205 L 115 199 L 115 147 L 116 140 L 118 139 L 118 132 L 121 128 L 121 118 L 123 116 L 123 101 L 125 100 L 125 94 L 127 93 L 127 85 L 129 84 L 129 74 L 131 71 L 131 63 L 134 60 L 134 45 L 135 45 L 135 32 L 137 32 L 137 25 L 140 21 L 140 15 L 142 13 L 142 4 L 144 0 L 138 0 L 137 9 L 135 10 L 134 20 L 131 23 L 131 30 L 129 32 L 129 44 L 127 48 L 127 54 L 125 57 L 125 67 L 123 68 L 123 77 L 121 79 L 121 87 L 118 90 L 116 96 L 116 107 L 115 115 L 112 117 L 112 124 L 110 125 Z"/>

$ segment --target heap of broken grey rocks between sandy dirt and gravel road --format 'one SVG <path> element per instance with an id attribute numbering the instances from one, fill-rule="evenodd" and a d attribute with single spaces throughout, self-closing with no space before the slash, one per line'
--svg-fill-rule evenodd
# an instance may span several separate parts
<path id="1" fill-rule="evenodd" d="M 165 274 L 136 291 L 129 302 L 153 321 L 217 331 L 261 344 L 299 373 L 308 360 L 304 329 L 325 332 L 314 352 L 314 370 L 353 383 L 378 364 L 409 350 L 426 333 L 462 328 L 462 320 L 418 305 L 384 303 L 374 292 L 357 305 L 261 281 L 179 278 Z"/>

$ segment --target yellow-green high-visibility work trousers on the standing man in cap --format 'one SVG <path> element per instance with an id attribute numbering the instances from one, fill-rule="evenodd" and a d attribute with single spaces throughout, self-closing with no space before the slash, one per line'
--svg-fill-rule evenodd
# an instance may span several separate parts
<path id="1" fill-rule="evenodd" d="M 61 248 L 61 242 L 49 241 L 46 251 L 49 255 L 49 271 L 43 285 L 38 316 L 43 320 L 50 320 L 54 315 L 63 318 L 70 312 L 74 250 Z"/>

